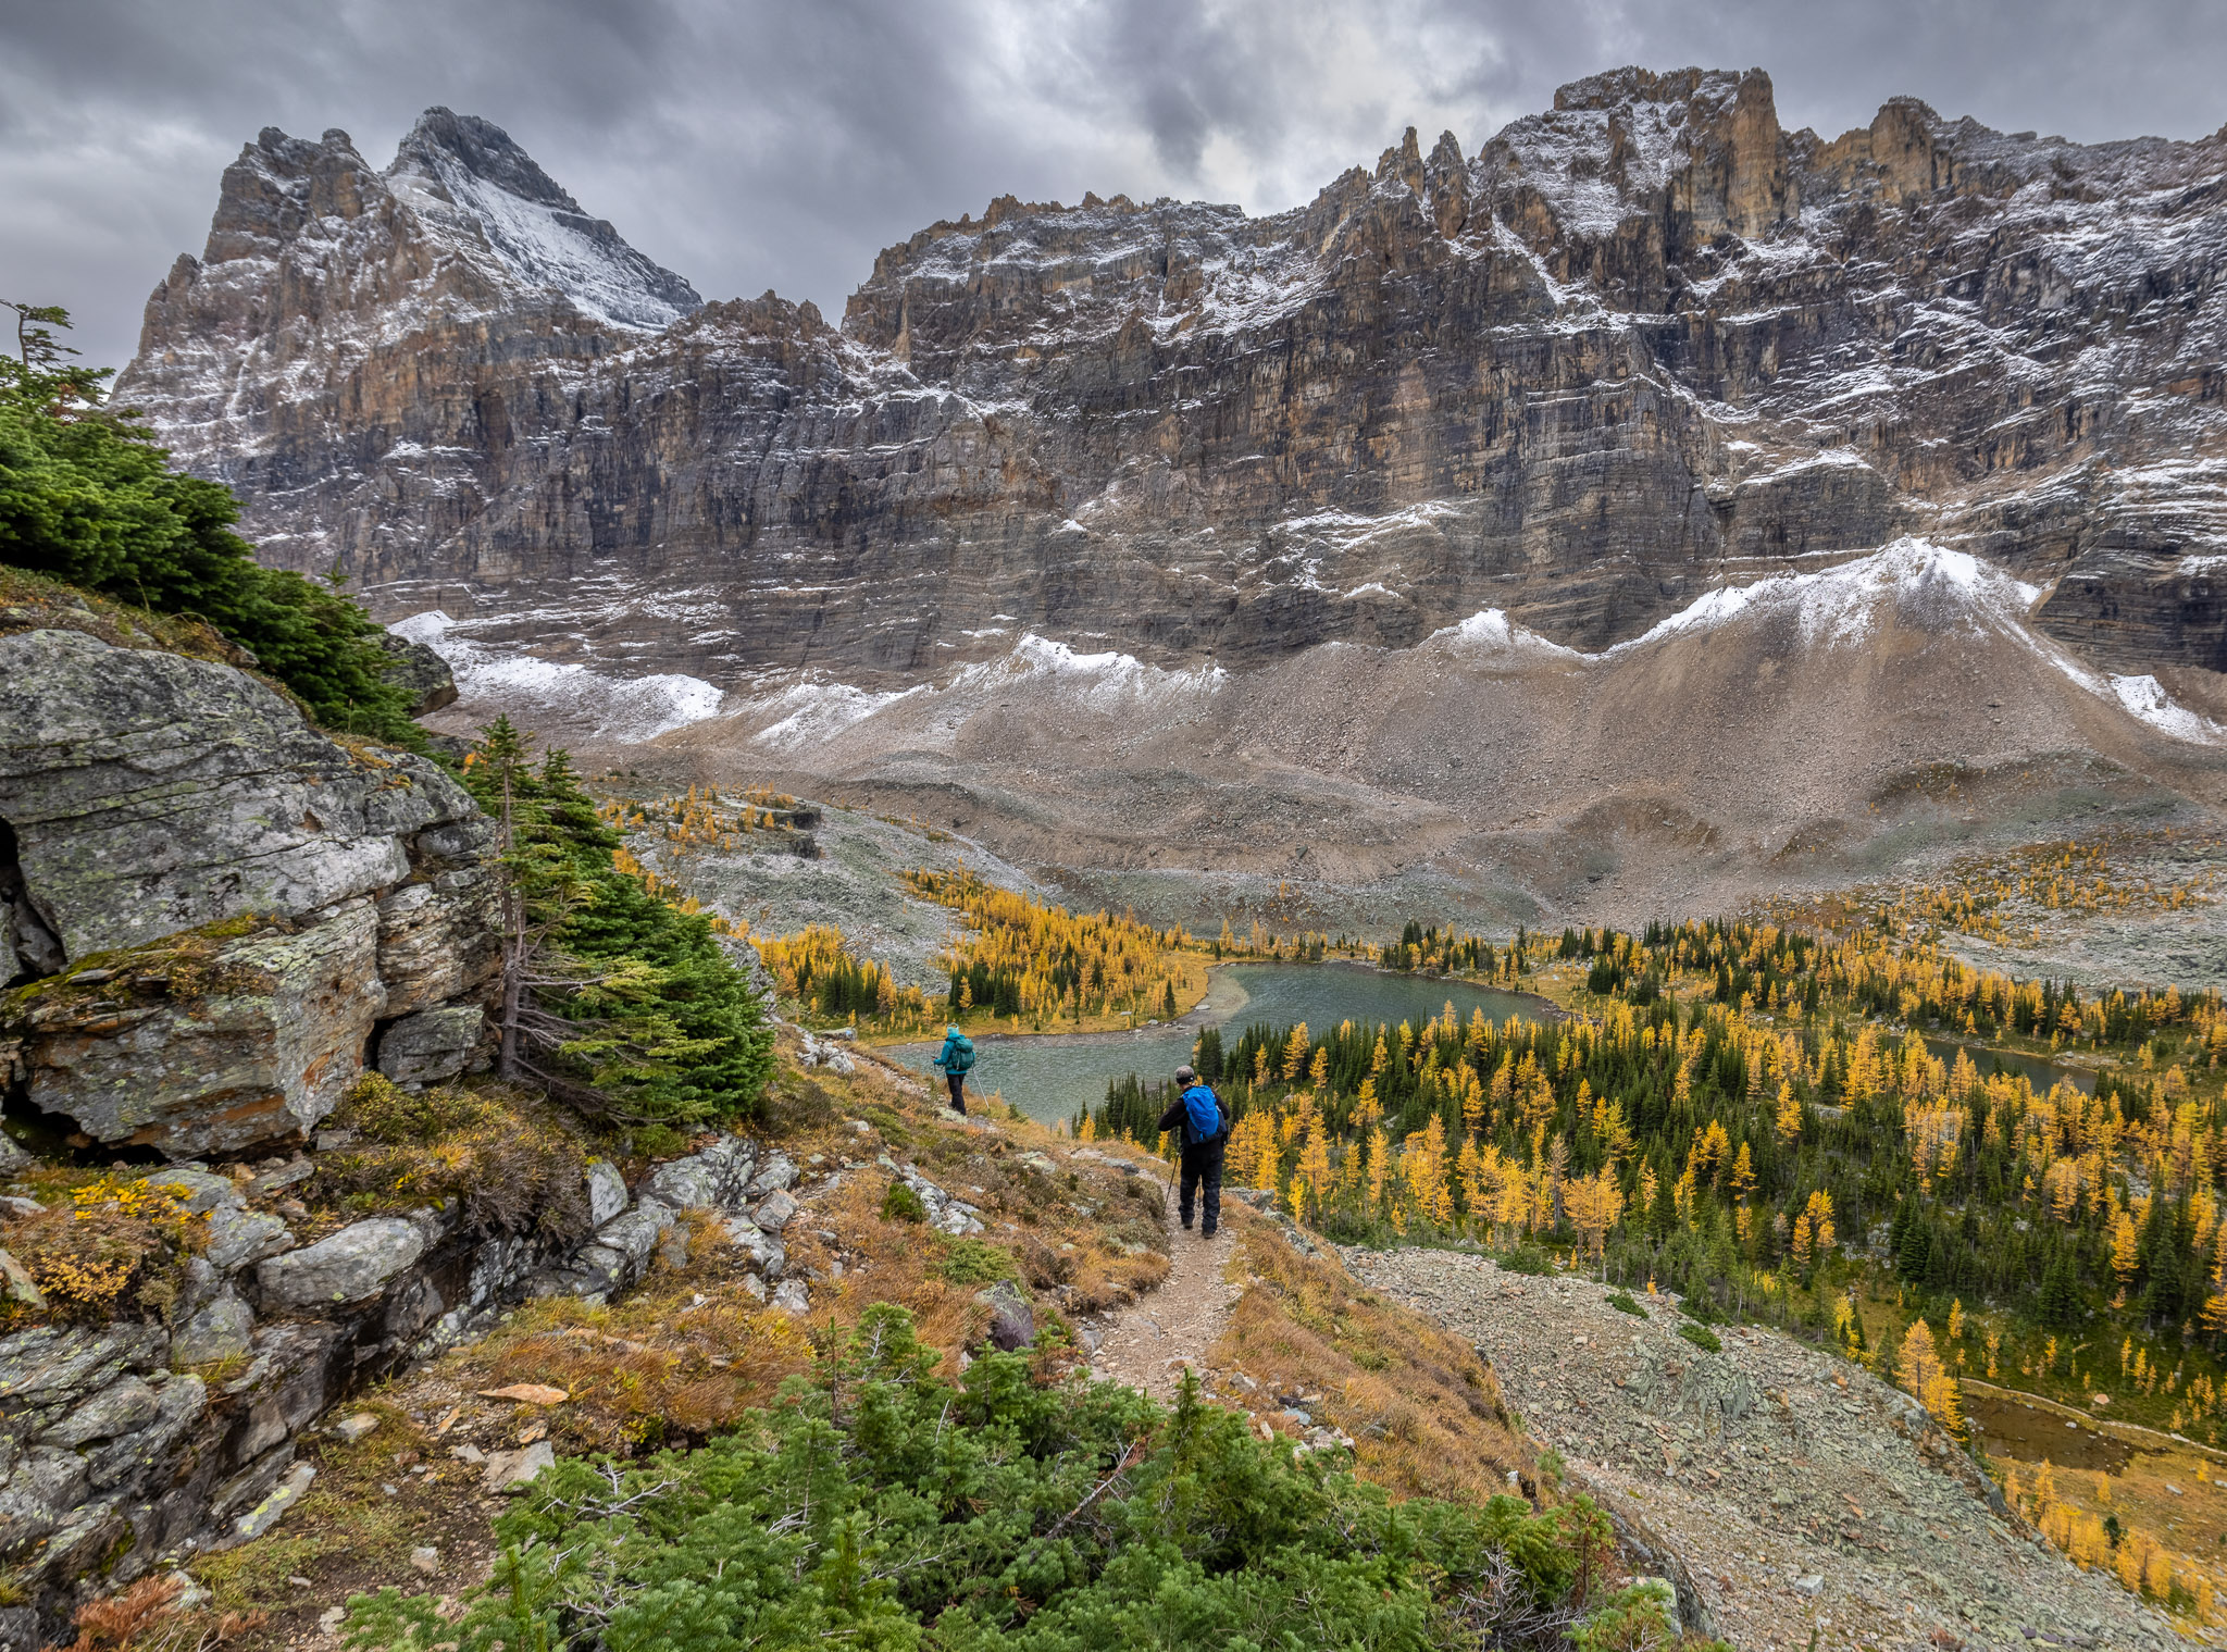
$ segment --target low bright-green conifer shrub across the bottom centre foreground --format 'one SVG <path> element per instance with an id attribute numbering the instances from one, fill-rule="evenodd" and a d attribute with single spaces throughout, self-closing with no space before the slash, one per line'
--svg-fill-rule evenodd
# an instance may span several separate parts
<path id="1" fill-rule="evenodd" d="M 350 1603 L 345 1641 L 1425 1652 L 1581 1605 L 1577 1505 L 1394 1503 L 1256 1438 L 1194 1383 L 1165 1412 L 1105 1383 L 1040 1387 L 1011 1354 L 975 1360 L 964 1387 L 935 1369 L 902 1309 L 869 1307 L 733 1434 L 546 1469 L 497 1516 L 494 1576 L 461 1621 L 390 1587 Z M 1512 1590 L 1492 1587 L 1503 1561 Z"/>

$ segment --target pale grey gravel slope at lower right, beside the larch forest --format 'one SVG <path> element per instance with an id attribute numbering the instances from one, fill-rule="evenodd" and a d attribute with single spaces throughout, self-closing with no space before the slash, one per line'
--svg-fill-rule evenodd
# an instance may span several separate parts
<path id="1" fill-rule="evenodd" d="M 2080 1572 L 1906 1394 L 1753 1327 L 1721 1354 L 1579 1278 L 1456 1251 L 1341 1249 L 1387 1296 L 1477 1343 L 1570 1483 L 1684 1563 L 1710 1628 L 1762 1648 L 2165 1648 L 2167 1619 Z"/>

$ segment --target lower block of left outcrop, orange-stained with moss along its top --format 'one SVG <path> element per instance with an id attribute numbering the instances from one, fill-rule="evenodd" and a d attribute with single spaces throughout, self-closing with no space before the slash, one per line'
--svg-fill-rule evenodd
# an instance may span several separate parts
<path id="1" fill-rule="evenodd" d="M 156 953 L 96 986 L 58 977 L 18 1009 L 31 1104 L 174 1158 L 307 1131 L 363 1073 L 387 1002 L 376 940 L 359 897 L 205 957 Z"/>

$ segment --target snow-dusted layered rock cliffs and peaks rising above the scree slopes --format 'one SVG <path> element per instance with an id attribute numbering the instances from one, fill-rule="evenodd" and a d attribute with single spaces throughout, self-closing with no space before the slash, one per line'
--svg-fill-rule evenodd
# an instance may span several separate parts
<path id="1" fill-rule="evenodd" d="M 1024 632 L 1158 663 L 1601 648 L 1902 530 L 2116 670 L 2227 666 L 2227 142 L 1626 69 L 1272 218 L 991 203 L 842 327 L 695 305 L 485 122 L 265 131 L 120 394 L 387 612 L 737 686 Z"/>

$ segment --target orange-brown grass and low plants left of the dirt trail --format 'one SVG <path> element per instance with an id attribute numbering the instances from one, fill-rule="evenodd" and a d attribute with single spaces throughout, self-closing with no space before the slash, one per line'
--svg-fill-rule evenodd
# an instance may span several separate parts
<path id="1" fill-rule="evenodd" d="M 815 1349 L 875 1302 L 909 1309 L 920 1340 L 955 1376 L 958 1356 L 987 1331 L 989 1307 L 975 1296 L 998 1271 L 1031 1287 L 1040 1360 L 1053 1374 L 1071 1363 L 1060 1316 L 1136 1300 L 1167 1276 L 1167 1256 L 1151 1249 L 1162 1242 L 1158 1187 L 1096 1167 L 1078 1167 L 1089 1176 L 1047 1176 L 1020 1164 L 1031 1149 L 1062 1147 L 1038 1124 L 1000 1122 L 995 1133 L 944 1127 L 871 1064 L 851 1080 L 784 1073 L 775 1107 L 786 1153 L 817 1153 L 828 1169 L 846 1156 L 853 1164 L 782 1233 L 788 1276 L 808 1280 L 811 1311 L 795 1318 L 750 1296 L 746 1253 L 717 1220 L 693 1213 L 684 1218 L 681 1267 L 659 1253 L 648 1278 L 606 1307 L 577 1298 L 530 1302 L 483 1343 L 414 1378 L 441 1392 L 443 1409 L 459 1407 L 457 1438 L 492 1434 L 510 1443 L 539 1425 L 563 1454 L 619 1456 L 704 1440 L 768 1405 L 784 1378 L 811 1369 Z M 864 1120 L 871 1133 L 857 1135 L 851 1120 Z M 893 1178 L 871 1162 L 880 1147 L 909 1153 L 982 1209 L 987 1231 L 958 1242 L 922 1222 L 884 1218 Z M 973 1267 L 951 1271 L 973 1278 L 946 1278 L 964 1247 L 975 1247 Z M 548 1409 L 479 1398 L 481 1389 L 512 1383 L 548 1383 L 568 1398 Z"/>

